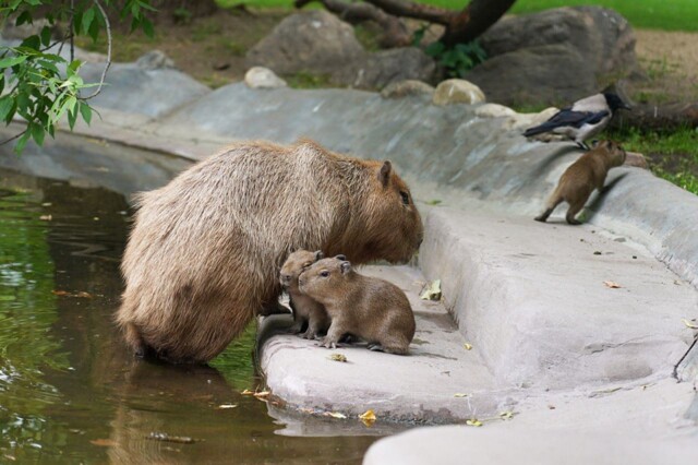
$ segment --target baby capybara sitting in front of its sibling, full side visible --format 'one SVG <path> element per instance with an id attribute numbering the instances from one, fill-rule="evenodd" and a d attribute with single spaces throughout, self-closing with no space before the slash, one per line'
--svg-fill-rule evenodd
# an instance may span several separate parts
<path id="1" fill-rule="evenodd" d="M 323 259 L 299 277 L 301 293 L 323 303 L 332 318 L 322 346 L 335 348 L 350 333 L 371 350 L 407 354 L 414 314 L 405 293 L 385 279 L 361 275 L 344 257 Z"/>

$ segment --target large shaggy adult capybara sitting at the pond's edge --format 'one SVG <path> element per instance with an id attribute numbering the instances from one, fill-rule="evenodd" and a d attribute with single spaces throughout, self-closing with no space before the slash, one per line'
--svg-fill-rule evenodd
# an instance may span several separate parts
<path id="1" fill-rule="evenodd" d="M 117 322 L 136 355 L 206 362 L 276 308 L 289 250 L 404 262 L 423 229 L 390 162 L 239 143 L 137 196 Z"/>

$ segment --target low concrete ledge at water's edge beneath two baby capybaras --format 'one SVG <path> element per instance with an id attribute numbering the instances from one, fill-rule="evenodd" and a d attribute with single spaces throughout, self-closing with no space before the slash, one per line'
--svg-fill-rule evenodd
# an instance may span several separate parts
<path id="1" fill-rule="evenodd" d="M 261 330 L 260 363 L 274 394 L 296 409 L 356 417 L 372 408 L 381 421 L 446 422 L 497 412 L 507 393 L 492 385 L 478 347 L 464 347 L 466 341 L 443 305 L 419 299 L 419 272 L 369 266 L 362 273 L 406 291 L 417 317 L 411 354 L 374 353 L 362 345 L 320 348 L 315 342 L 278 334 L 279 318 L 269 318 Z M 330 360 L 334 353 L 344 354 L 348 362 Z"/>

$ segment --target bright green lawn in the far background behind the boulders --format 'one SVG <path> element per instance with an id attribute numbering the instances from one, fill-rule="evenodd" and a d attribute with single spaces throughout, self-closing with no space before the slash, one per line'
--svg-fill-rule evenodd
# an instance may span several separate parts
<path id="1" fill-rule="evenodd" d="M 468 0 L 428 0 L 419 3 L 460 10 Z M 291 0 L 217 0 L 224 8 L 245 3 L 253 8 L 291 9 Z M 318 3 L 314 3 L 318 4 Z M 580 4 L 597 4 L 616 10 L 634 27 L 662 31 L 698 31 L 698 0 L 518 0 L 512 13 L 534 13 L 541 10 Z"/>

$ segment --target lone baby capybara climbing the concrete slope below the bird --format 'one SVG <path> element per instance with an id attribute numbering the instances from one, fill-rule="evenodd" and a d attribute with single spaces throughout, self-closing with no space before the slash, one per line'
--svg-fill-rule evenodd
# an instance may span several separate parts
<path id="1" fill-rule="evenodd" d="M 562 202 L 569 204 L 565 219 L 570 225 L 580 225 L 575 218 L 594 189 L 603 189 L 609 170 L 625 163 L 625 151 L 613 141 L 602 141 L 583 154 L 563 172 L 557 188 L 547 200 L 545 211 L 535 217 L 537 222 L 545 222 L 553 210 Z"/>

